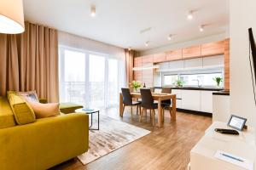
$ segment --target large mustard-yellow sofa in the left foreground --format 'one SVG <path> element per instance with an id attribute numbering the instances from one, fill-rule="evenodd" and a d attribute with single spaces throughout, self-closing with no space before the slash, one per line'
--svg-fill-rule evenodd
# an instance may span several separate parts
<path id="1" fill-rule="evenodd" d="M 73 113 L 16 125 L 9 102 L 0 96 L 0 169 L 40 170 L 86 152 L 88 115 Z"/>

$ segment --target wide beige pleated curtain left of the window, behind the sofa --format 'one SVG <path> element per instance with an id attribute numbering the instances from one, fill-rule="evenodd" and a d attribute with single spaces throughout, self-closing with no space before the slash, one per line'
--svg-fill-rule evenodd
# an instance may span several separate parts
<path id="1" fill-rule="evenodd" d="M 59 100 L 57 31 L 26 22 L 20 35 L 0 34 L 0 95 L 36 90 L 49 102 Z"/>

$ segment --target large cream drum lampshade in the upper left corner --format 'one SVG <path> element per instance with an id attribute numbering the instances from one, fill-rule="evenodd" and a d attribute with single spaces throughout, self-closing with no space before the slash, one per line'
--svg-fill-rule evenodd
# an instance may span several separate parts
<path id="1" fill-rule="evenodd" d="M 0 33 L 19 34 L 25 31 L 22 0 L 1 0 L 0 7 Z"/>

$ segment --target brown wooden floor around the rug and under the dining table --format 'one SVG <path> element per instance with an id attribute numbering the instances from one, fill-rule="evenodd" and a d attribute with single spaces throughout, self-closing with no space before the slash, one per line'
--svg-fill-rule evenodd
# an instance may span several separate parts
<path id="1" fill-rule="evenodd" d="M 107 156 L 83 166 L 78 159 L 62 163 L 51 169 L 65 170 L 179 170 L 186 169 L 189 163 L 189 151 L 201 138 L 204 131 L 212 123 L 212 118 L 177 112 L 177 121 L 171 122 L 166 111 L 164 127 L 152 127 L 149 115 L 143 122 L 138 122 L 134 108 L 125 108 L 124 118 L 119 117 L 118 108 L 104 111 L 107 116 L 143 127 L 152 133 L 137 141 L 115 150 Z M 156 116 L 157 117 L 157 116 Z"/>

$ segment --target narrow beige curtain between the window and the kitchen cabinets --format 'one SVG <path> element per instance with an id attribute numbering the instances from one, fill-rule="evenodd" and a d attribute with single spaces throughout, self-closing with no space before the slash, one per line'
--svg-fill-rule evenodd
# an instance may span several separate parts
<path id="1" fill-rule="evenodd" d="M 126 82 L 127 86 L 130 88 L 129 84 L 133 79 L 133 58 L 137 56 L 137 52 L 134 50 L 125 49 L 125 71 L 126 71 Z"/>

